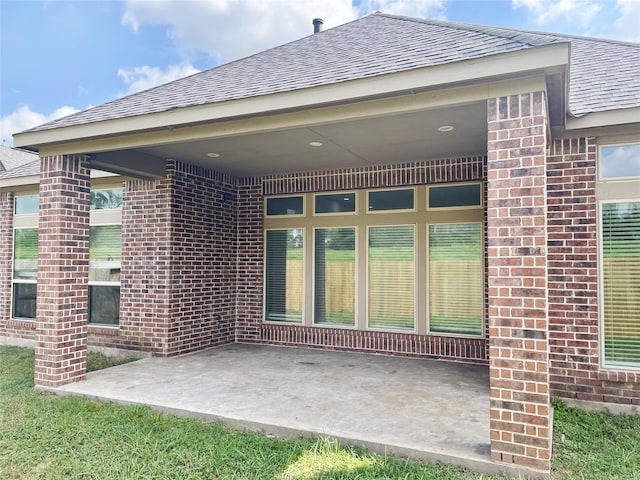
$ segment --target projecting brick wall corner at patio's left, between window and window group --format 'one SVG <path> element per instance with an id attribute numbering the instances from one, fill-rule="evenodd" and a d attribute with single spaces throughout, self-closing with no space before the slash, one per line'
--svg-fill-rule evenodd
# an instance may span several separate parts
<path id="1" fill-rule="evenodd" d="M 120 328 L 90 327 L 92 345 L 175 355 L 233 341 L 233 179 L 172 161 L 167 177 L 124 189 Z"/>

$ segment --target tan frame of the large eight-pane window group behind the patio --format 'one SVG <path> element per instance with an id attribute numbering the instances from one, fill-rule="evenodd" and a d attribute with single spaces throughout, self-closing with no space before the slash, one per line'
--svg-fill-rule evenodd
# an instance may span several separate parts
<path id="1" fill-rule="evenodd" d="M 450 185 L 460 184 L 480 184 L 482 182 L 450 182 Z M 446 185 L 446 184 L 434 184 Z M 305 211 L 305 215 L 279 215 L 268 216 L 266 211 L 263 212 L 263 248 L 266 250 L 266 232 L 278 229 L 304 229 L 307 236 L 303 252 L 303 267 L 306 271 L 303 273 L 303 318 L 301 323 L 288 323 L 291 327 L 305 328 L 330 328 L 330 329 L 349 329 L 355 331 L 382 331 L 399 334 L 415 334 L 429 335 L 432 337 L 442 336 L 450 338 L 478 338 L 486 337 L 486 280 L 483 281 L 483 312 L 482 322 L 483 328 L 479 335 L 445 333 L 445 332 L 429 332 L 428 325 L 428 300 L 424 292 L 428 292 L 428 224 L 430 223 L 479 223 L 482 225 L 482 255 L 485 261 L 486 252 L 486 210 L 484 205 L 475 207 L 461 208 L 437 208 L 427 209 L 427 187 L 428 184 L 406 185 L 390 188 L 356 188 L 356 189 L 339 189 L 339 190 L 322 190 L 316 192 L 303 192 L 295 195 L 265 195 L 266 198 L 303 196 L 305 208 L 311 206 L 313 210 Z M 381 190 L 413 190 L 414 209 L 409 210 L 375 210 L 369 212 L 368 194 L 369 192 L 377 192 Z M 345 215 L 343 212 L 332 212 L 327 214 L 315 213 L 316 194 L 338 194 L 338 193 L 355 192 L 357 211 L 354 214 Z M 370 215 L 375 213 L 375 215 Z M 369 226 L 385 226 L 385 225 L 413 225 L 414 226 L 414 269 L 413 269 L 413 285 L 414 285 L 414 322 L 413 329 L 395 329 L 377 327 L 370 328 L 368 326 L 368 228 Z M 331 228 L 353 228 L 356 232 L 356 321 L 355 325 L 331 325 L 324 323 L 316 323 L 315 321 L 315 230 L 331 229 Z M 309 250 L 311 249 L 311 250 Z M 263 301 L 262 301 L 262 323 L 268 325 L 283 325 L 282 321 L 266 320 L 266 251 L 263 252 Z M 486 265 L 482 265 L 483 275 L 486 275 Z"/>

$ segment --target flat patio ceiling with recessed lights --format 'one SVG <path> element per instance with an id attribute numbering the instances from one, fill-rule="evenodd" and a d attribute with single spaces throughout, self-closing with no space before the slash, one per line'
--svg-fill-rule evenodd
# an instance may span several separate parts
<path id="1" fill-rule="evenodd" d="M 438 130 L 454 127 L 450 131 Z M 313 146 L 311 142 L 321 143 Z M 268 175 L 327 168 L 484 155 L 486 102 L 401 114 L 319 123 L 239 135 L 142 146 L 117 152 L 120 158 L 175 158 L 235 176 Z M 93 154 L 111 163 L 114 152 Z"/>

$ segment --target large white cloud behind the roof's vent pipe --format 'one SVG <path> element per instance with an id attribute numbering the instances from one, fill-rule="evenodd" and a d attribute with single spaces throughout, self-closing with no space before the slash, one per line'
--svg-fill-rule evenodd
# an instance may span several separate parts
<path id="1" fill-rule="evenodd" d="M 165 26 L 183 57 L 199 51 L 226 62 L 310 35 L 314 18 L 327 29 L 357 14 L 351 0 L 127 0 L 122 23 Z"/>

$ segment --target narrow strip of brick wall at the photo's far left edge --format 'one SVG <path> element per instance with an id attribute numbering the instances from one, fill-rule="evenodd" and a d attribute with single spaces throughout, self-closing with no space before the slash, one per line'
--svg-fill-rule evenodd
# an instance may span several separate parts
<path id="1" fill-rule="evenodd" d="M 11 318 L 11 278 L 13 276 L 13 193 L 0 192 L 0 335 Z"/>

